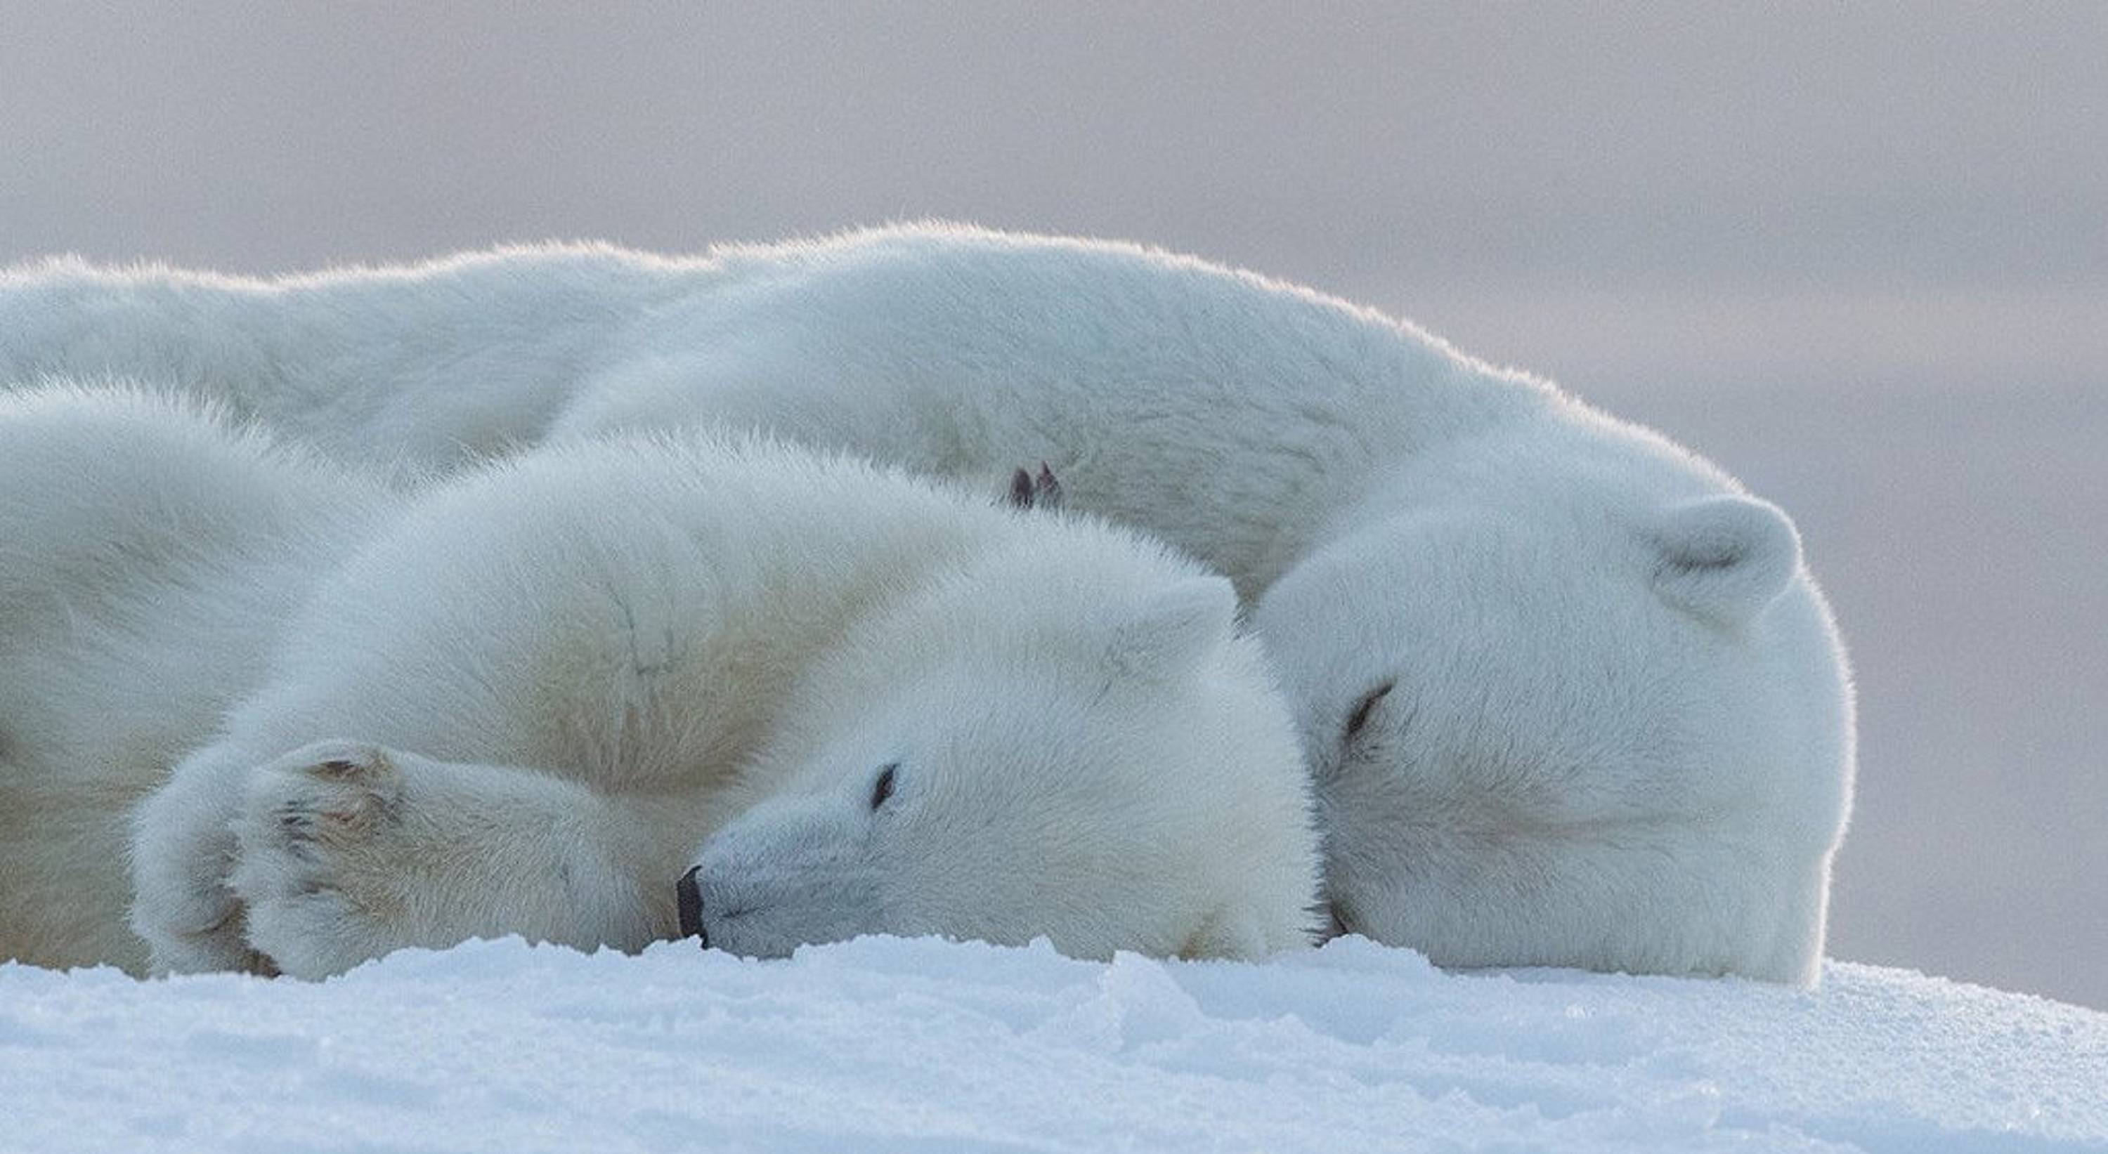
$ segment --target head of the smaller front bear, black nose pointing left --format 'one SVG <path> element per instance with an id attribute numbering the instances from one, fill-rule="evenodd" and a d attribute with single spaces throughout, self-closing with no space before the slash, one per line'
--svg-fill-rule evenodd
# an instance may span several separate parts
<path id="1" fill-rule="evenodd" d="M 1311 939 L 1309 781 L 1229 583 L 1079 533 L 940 581 L 824 661 L 750 773 L 759 800 L 683 878 L 685 929 L 750 956 L 862 933 L 1098 958 Z"/>

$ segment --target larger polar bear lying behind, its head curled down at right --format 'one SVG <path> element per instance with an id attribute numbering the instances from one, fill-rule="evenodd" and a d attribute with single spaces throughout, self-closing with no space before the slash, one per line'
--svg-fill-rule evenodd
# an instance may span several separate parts
<path id="1" fill-rule="evenodd" d="M 1280 661 L 1339 920 L 1444 964 L 1815 977 L 1853 779 L 1779 510 L 1318 293 L 915 225 L 247 282 L 25 267 L 0 373 L 177 381 L 356 461 L 725 423 L 1065 499 L 1227 573 Z"/>

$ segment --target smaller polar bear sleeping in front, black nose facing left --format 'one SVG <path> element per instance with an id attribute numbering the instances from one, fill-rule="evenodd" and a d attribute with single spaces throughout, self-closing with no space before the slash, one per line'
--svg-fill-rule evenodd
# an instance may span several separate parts
<path id="1" fill-rule="evenodd" d="M 0 958 L 1309 941 L 1258 642 L 1130 531 L 700 440 L 398 497 L 76 390 L 0 396 Z"/>

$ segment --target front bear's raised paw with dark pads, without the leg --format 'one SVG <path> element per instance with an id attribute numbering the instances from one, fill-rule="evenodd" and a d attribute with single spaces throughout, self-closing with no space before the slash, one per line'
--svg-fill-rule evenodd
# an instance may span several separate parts
<path id="1" fill-rule="evenodd" d="M 320 741 L 255 771 L 234 823 L 249 943 L 295 977 L 407 946 L 403 771 L 388 750 Z"/>

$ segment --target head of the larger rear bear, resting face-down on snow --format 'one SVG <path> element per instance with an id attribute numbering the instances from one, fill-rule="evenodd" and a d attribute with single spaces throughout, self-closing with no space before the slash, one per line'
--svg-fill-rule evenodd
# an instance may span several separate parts
<path id="1" fill-rule="evenodd" d="M 1414 465 L 1328 539 L 1254 623 L 1336 927 L 1438 964 L 1813 981 L 1851 699 L 1785 514 L 1573 415 Z"/>

